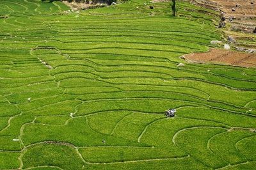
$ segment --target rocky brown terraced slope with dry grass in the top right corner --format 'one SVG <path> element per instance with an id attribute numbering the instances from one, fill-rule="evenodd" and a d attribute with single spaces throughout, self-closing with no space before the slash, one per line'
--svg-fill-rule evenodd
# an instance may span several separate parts
<path id="1" fill-rule="evenodd" d="M 256 0 L 184 0 L 220 12 L 217 27 L 226 40 L 236 40 L 232 49 L 247 52 L 256 49 Z"/>

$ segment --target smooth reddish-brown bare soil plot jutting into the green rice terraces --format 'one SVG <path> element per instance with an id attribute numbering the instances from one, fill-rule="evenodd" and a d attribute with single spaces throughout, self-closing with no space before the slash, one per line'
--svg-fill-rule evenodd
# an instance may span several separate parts
<path id="1" fill-rule="evenodd" d="M 182 56 L 189 63 L 214 63 L 243 67 L 256 67 L 256 54 L 246 54 L 222 49 L 211 49 L 204 53 L 191 53 Z"/>

